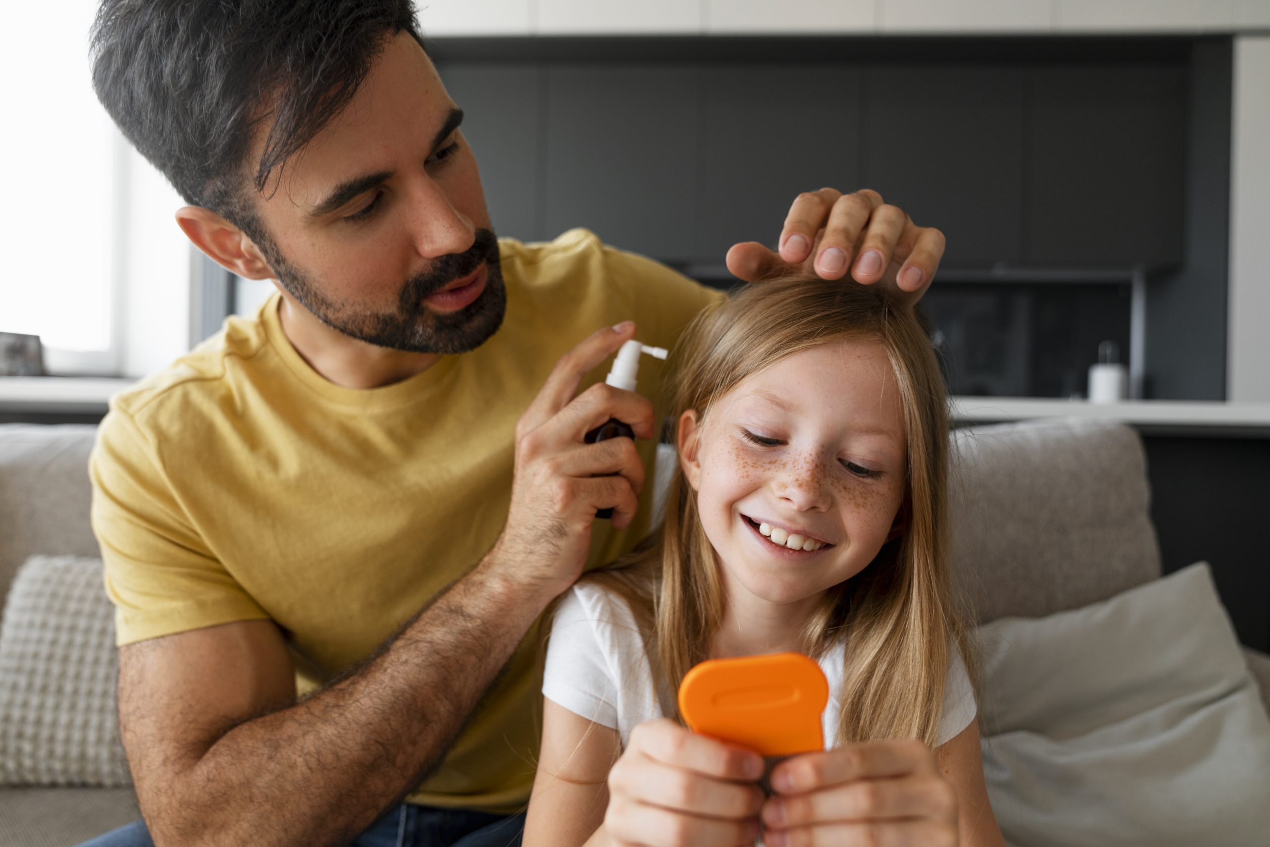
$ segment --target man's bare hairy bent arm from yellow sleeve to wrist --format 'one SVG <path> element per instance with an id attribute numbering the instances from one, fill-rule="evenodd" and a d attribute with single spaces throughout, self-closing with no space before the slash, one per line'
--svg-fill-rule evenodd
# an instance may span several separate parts
<path id="1" fill-rule="evenodd" d="M 122 648 L 119 725 L 155 843 L 347 844 L 414 791 L 546 603 L 488 564 L 300 702 L 269 621 Z"/>

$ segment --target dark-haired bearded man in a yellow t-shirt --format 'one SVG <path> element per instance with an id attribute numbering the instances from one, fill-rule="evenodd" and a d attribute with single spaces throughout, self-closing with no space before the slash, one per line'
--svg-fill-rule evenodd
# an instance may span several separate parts
<path id="1" fill-rule="evenodd" d="M 671 347 L 720 295 L 582 230 L 495 240 L 415 27 L 408 0 L 102 5 L 102 102 L 190 241 L 279 292 L 102 424 L 145 825 L 94 843 L 513 842 L 536 621 L 648 530 L 659 368 L 638 394 L 596 368 L 636 331 Z M 875 193 L 822 189 L 779 255 L 728 262 L 853 262 L 916 298 L 941 254 Z M 585 444 L 610 418 L 640 442 Z"/>

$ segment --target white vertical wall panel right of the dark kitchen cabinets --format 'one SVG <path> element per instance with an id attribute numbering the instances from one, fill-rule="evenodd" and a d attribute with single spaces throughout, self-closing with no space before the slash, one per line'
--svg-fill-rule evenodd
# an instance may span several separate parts
<path id="1" fill-rule="evenodd" d="M 1227 399 L 1270 400 L 1270 37 L 1234 39 Z"/>

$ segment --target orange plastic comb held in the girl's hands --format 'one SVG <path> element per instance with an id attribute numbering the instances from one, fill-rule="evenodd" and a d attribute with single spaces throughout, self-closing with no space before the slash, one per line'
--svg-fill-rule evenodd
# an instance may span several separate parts
<path id="1" fill-rule="evenodd" d="M 679 683 L 679 714 L 692 731 L 759 756 L 823 750 L 828 701 L 824 672 L 801 653 L 711 659 Z"/>

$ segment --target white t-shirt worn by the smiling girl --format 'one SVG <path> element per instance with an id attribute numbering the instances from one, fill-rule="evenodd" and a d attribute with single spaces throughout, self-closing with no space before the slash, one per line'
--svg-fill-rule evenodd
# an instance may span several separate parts
<path id="1" fill-rule="evenodd" d="M 843 646 L 820 657 L 829 681 L 823 729 L 831 745 L 838 731 Z M 622 747 L 636 724 L 673 714 L 672 692 L 658 691 L 644 639 L 626 602 L 593 584 L 574 585 L 556 610 L 547 643 L 542 693 L 575 715 L 616 729 Z M 944 686 L 939 744 L 970 725 L 978 707 L 958 650 Z"/>

